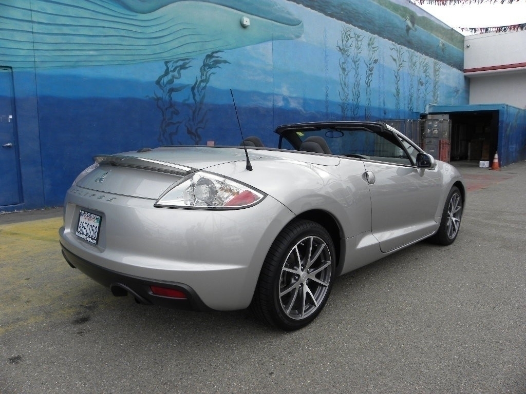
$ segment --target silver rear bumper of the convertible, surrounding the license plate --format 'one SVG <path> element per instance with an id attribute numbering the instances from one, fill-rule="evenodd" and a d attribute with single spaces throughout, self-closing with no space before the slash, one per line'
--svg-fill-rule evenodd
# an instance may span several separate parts
<path id="1" fill-rule="evenodd" d="M 95 194 L 66 196 L 59 230 L 66 260 L 114 294 L 190 309 L 249 306 L 272 242 L 294 218 L 270 196 L 247 209 L 194 211 L 155 208 L 151 200 L 120 195 L 99 200 Z M 98 244 L 75 235 L 80 210 L 102 217 Z M 188 301 L 153 295 L 149 287 L 158 284 L 183 291 Z"/>

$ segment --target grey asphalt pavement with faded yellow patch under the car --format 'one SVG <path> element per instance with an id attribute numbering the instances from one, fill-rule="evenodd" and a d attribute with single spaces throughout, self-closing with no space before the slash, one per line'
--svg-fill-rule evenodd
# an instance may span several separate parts
<path id="1" fill-rule="evenodd" d="M 526 162 L 453 163 L 457 241 L 337 279 L 284 333 L 138 305 L 70 268 L 62 209 L 0 215 L 0 393 L 526 393 Z"/>

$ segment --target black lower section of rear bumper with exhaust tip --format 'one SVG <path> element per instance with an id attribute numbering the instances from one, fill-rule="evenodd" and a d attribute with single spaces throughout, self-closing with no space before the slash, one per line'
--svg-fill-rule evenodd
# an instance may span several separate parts
<path id="1" fill-rule="evenodd" d="M 70 266 L 78 268 L 84 274 L 94 279 L 94 281 L 109 287 L 115 296 L 127 296 L 129 294 L 135 298 L 136 302 L 146 305 L 161 305 L 188 310 L 211 310 L 203 303 L 194 289 L 188 285 L 176 282 L 154 281 L 118 273 L 80 258 L 68 251 L 62 243 L 60 243 L 60 247 L 62 247 L 62 255 Z M 184 293 L 185 298 L 165 297 L 154 294 L 151 286 L 177 290 Z"/>

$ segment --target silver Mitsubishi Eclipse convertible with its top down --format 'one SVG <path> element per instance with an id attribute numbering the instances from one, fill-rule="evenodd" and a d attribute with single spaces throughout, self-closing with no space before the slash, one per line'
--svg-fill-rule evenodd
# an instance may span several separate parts
<path id="1" fill-rule="evenodd" d="M 459 172 L 379 122 L 278 127 L 278 148 L 177 146 L 98 155 L 67 191 L 66 261 L 116 296 L 251 307 L 310 323 L 335 278 L 459 232 Z"/>

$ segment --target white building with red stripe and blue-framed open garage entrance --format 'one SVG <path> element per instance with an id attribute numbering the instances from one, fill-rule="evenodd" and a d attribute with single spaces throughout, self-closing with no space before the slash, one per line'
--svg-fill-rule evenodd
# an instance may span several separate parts
<path id="1" fill-rule="evenodd" d="M 469 105 L 430 105 L 451 122 L 451 160 L 526 159 L 526 30 L 464 38 Z"/>

